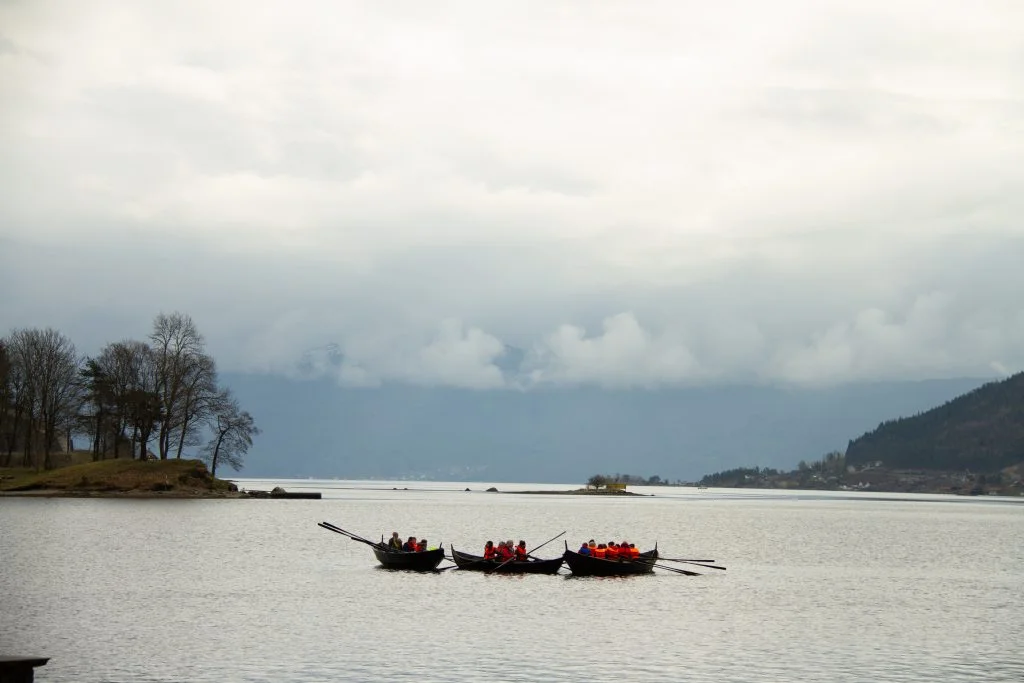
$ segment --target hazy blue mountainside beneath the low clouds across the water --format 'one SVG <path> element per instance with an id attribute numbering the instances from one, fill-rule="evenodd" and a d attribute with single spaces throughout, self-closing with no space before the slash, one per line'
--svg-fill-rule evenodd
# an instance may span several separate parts
<path id="1" fill-rule="evenodd" d="M 790 469 L 985 382 L 518 392 L 223 380 L 263 429 L 246 476 L 567 483 L 599 472 L 693 480 L 738 466 Z"/>

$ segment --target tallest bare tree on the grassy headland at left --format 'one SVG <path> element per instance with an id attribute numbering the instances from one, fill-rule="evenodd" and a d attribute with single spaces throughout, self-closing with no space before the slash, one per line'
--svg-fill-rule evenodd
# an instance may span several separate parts
<path id="1" fill-rule="evenodd" d="M 203 335 L 190 316 L 179 312 L 160 313 L 150 335 L 157 364 L 157 393 L 161 402 L 158 444 L 160 459 L 171 451 L 173 434 L 185 424 L 184 403 L 188 373 L 204 355 Z M 187 426 L 185 427 L 187 430 Z"/>

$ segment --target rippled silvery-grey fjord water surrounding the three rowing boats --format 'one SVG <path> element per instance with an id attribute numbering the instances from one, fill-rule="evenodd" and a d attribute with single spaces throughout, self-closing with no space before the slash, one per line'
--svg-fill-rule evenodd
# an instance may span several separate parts
<path id="1" fill-rule="evenodd" d="M 325 499 L 0 499 L 0 654 L 51 657 L 44 682 L 1024 679 L 1019 501 L 283 483 Z M 728 570 L 403 573 L 321 520 L 472 552 L 566 529 Z"/>

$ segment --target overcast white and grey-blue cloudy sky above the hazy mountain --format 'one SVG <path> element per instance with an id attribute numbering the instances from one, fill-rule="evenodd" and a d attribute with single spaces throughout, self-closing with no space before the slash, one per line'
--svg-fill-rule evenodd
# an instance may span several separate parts
<path id="1" fill-rule="evenodd" d="M 181 310 L 364 385 L 1024 369 L 1019 0 L 0 0 L 0 334 Z"/>

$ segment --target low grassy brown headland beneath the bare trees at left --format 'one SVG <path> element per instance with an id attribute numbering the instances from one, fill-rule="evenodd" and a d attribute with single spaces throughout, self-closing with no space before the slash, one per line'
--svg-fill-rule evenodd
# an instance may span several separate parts
<path id="1" fill-rule="evenodd" d="M 103 460 L 37 472 L 0 468 L 0 496 L 232 498 L 229 481 L 198 460 Z"/>

